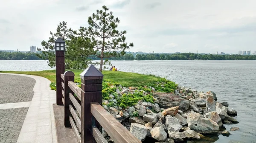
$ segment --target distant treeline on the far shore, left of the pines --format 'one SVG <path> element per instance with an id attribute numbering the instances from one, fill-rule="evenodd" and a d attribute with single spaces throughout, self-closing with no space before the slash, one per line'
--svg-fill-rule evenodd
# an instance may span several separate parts
<path id="1" fill-rule="evenodd" d="M 0 51 L 0 59 L 7 60 L 40 60 L 35 53 L 22 53 L 22 52 L 3 52 Z"/>

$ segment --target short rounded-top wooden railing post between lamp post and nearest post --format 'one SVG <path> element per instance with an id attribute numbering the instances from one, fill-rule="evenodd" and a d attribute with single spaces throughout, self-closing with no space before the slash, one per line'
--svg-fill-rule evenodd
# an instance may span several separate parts
<path id="1" fill-rule="evenodd" d="M 64 93 L 65 93 L 65 105 L 64 105 L 64 125 L 65 127 L 70 127 L 70 120 L 69 116 L 71 115 L 69 105 L 71 104 L 70 98 L 69 98 L 69 93 L 73 93 L 73 91 L 70 89 L 68 86 L 68 81 L 73 81 L 75 80 L 75 74 L 72 71 L 66 71 L 64 73 Z"/>

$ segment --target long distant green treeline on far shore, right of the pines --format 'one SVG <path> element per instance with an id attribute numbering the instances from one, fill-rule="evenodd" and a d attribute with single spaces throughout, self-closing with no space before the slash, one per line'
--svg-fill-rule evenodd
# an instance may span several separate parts
<path id="1" fill-rule="evenodd" d="M 94 56 L 93 60 L 99 60 Z M 177 53 L 177 54 L 137 54 L 135 57 L 129 53 L 120 57 L 111 57 L 109 60 L 256 60 L 256 55 L 213 55 L 213 54 L 195 54 L 195 53 Z"/>

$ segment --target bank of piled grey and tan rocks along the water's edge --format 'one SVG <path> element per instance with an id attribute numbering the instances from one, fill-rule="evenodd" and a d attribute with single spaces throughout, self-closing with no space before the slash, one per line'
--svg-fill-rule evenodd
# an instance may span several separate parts
<path id="1" fill-rule="evenodd" d="M 121 89 L 116 91 L 119 96 L 136 90 L 135 87 L 118 88 Z M 108 102 L 115 101 L 115 96 L 110 95 L 110 100 L 103 101 L 103 107 L 141 141 L 146 137 L 153 138 L 156 143 L 200 140 L 205 134 L 230 134 L 220 131 L 220 127 L 239 123 L 233 118 L 237 115 L 236 110 L 229 108 L 227 102 L 218 102 L 212 91 L 204 93 L 179 86 L 174 93 L 158 93 L 151 89 L 154 103 L 138 101 L 122 109 L 107 106 Z M 103 135 L 112 142 L 105 132 Z"/>

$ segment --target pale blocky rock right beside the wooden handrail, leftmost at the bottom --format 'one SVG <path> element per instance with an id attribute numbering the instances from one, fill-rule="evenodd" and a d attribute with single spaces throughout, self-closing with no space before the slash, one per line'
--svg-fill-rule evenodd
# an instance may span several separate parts
<path id="1" fill-rule="evenodd" d="M 141 141 L 145 140 L 147 136 L 147 128 L 138 123 L 131 123 L 130 132 Z"/>

